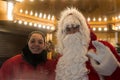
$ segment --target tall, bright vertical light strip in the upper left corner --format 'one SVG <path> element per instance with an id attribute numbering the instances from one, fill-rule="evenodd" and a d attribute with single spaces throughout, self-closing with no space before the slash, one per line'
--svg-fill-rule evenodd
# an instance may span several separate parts
<path id="1" fill-rule="evenodd" d="M 8 2 L 8 6 L 7 6 L 7 17 L 8 17 L 8 20 L 13 20 L 13 8 L 14 8 L 14 5 L 12 2 Z"/>

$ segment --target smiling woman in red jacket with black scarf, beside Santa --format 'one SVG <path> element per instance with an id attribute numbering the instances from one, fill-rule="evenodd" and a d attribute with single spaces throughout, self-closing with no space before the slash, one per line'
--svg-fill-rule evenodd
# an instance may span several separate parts
<path id="1" fill-rule="evenodd" d="M 22 53 L 3 63 L 0 80 L 54 80 L 56 62 L 47 59 L 45 36 L 33 31 Z"/>

